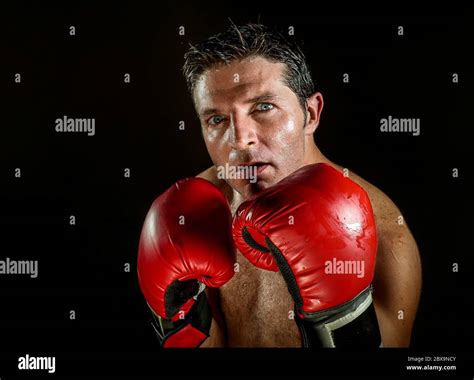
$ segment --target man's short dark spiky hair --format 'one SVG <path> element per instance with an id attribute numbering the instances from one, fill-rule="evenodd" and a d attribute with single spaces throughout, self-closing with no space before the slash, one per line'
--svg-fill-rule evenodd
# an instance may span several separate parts
<path id="1" fill-rule="evenodd" d="M 183 66 L 189 92 L 193 95 L 197 80 L 207 69 L 252 56 L 261 56 L 286 65 L 285 83 L 296 94 L 305 110 L 306 99 L 314 93 L 306 57 L 297 43 L 262 24 L 237 26 L 232 23 L 226 31 L 209 37 L 200 44 L 191 45 L 184 55 Z"/>

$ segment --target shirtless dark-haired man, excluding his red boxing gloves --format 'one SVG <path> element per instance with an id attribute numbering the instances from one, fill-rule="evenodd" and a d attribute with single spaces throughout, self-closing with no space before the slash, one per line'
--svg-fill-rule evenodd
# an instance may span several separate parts
<path id="1" fill-rule="evenodd" d="M 262 25 L 233 25 L 192 47 L 185 58 L 184 74 L 214 163 L 197 177 L 220 189 L 234 218 L 244 201 L 258 197 L 300 168 L 322 163 L 343 171 L 315 144 L 313 134 L 320 123 L 323 96 L 314 91 L 305 57 L 297 46 Z M 222 178 L 219 168 L 226 166 L 252 166 L 256 180 Z M 397 206 L 356 174 L 349 176 L 367 192 L 375 215 L 378 249 L 372 282 L 382 345 L 406 347 L 421 288 L 417 245 L 406 223 L 399 223 Z M 220 220 L 223 227 L 218 233 L 225 235 L 225 217 Z M 217 250 L 227 252 L 226 245 L 220 244 Z M 222 281 L 206 290 L 213 318 L 205 334 L 209 337 L 200 338 L 200 347 L 301 347 L 298 326 L 289 318 L 294 298 L 287 278 L 279 271 L 258 268 L 240 251 L 235 262 L 238 269 L 233 274 L 228 270 L 231 256 L 226 270 L 212 272 L 219 273 Z M 139 259 L 139 272 L 140 267 L 150 266 L 144 260 L 140 265 Z M 142 276 L 141 283 L 144 281 L 148 280 Z M 144 293 L 147 297 L 148 291 Z M 150 303 L 150 297 L 147 300 Z"/>

